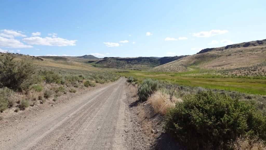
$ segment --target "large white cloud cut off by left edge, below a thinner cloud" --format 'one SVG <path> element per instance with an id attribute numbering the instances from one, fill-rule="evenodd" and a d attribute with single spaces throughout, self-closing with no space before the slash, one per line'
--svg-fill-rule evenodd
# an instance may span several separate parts
<path id="1" fill-rule="evenodd" d="M 13 39 L 13 38 L 3 38 L 0 37 L 0 47 L 6 47 L 6 48 L 32 48 L 31 45 L 24 45 L 19 40 Z"/>

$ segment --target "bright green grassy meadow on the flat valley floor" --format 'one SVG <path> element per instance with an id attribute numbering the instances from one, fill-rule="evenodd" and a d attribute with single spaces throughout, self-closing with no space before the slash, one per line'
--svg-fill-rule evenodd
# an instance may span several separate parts
<path id="1" fill-rule="evenodd" d="M 121 76 L 133 76 L 138 78 L 153 78 L 172 84 L 201 86 L 203 88 L 238 91 L 250 94 L 266 95 L 266 80 L 253 78 L 228 77 L 213 74 L 214 71 L 194 70 L 182 73 L 152 73 L 144 71 L 118 72 Z"/>

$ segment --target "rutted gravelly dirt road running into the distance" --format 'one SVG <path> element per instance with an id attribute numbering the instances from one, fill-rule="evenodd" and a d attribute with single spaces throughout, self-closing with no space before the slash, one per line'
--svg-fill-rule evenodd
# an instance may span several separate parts
<path id="1" fill-rule="evenodd" d="M 68 102 L 14 120 L 0 131 L 0 149 L 127 149 L 125 78 Z"/>

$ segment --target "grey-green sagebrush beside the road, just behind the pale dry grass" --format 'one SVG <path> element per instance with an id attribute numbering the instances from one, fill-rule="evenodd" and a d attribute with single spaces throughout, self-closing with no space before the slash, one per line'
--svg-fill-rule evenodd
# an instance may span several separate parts
<path id="1" fill-rule="evenodd" d="M 158 81 L 152 79 L 145 79 L 142 85 L 138 88 L 139 100 L 147 101 L 147 98 L 159 89 Z"/>

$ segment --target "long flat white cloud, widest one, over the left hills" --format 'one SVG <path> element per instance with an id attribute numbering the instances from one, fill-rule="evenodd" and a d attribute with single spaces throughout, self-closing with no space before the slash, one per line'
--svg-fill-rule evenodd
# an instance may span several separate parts
<path id="1" fill-rule="evenodd" d="M 51 38 L 51 37 L 29 37 L 23 38 L 24 42 L 33 45 L 48 45 L 48 46 L 75 46 L 78 40 L 67 40 L 63 38 Z"/>

